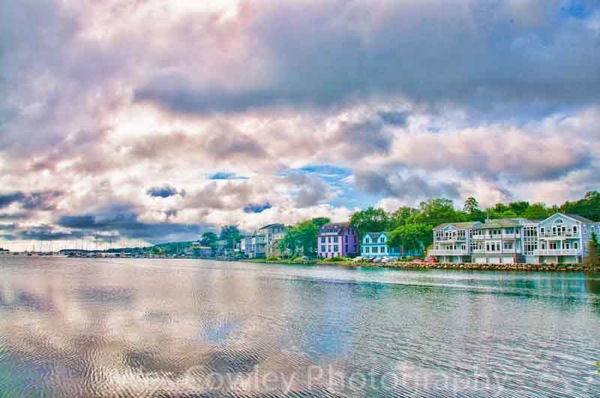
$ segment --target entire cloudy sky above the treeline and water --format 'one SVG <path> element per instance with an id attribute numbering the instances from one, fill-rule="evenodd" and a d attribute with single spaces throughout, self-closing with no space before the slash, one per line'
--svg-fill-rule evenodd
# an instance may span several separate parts
<path id="1" fill-rule="evenodd" d="M 0 0 L 0 247 L 600 188 L 598 0 Z"/>

